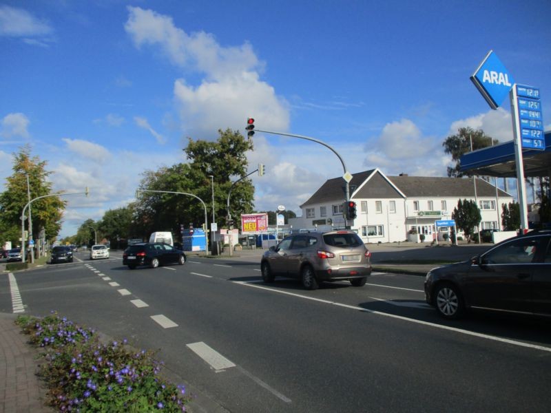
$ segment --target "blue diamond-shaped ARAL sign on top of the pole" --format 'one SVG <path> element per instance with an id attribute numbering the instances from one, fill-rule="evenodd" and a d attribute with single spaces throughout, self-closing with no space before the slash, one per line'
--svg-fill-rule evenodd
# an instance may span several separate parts
<path id="1" fill-rule="evenodd" d="M 470 76 L 470 80 L 475 83 L 492 109 L 497 109 L 501 105 L 514 85 L 512 74 L 507 71 L 493 50 L 486 54 L 475 73 Z"/>

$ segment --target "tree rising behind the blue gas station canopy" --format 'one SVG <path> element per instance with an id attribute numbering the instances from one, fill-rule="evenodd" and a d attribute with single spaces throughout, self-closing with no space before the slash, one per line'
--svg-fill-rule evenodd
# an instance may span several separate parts
<path id="1" fill-rule="evenodd" d="M 455 161 L 455 167 L 448 167 L 448 176 L 459 178 L 466 175 L 461 172 L 460 159 L 461 155 L 470 152 L 470 142 L 472 139 L 472 150 L 482 149 L 493 144 L 497 144 L 499 141 L 484 134 L 481 129 L 474 130 L 471 127 L 460 127 L 457 134 L 448 136 L 442 143 L 444 152 L 451 154 L 452 160 Z M 467 174 L 468 175 L 468 174 Z M 470 175 L 469 175 L 470 176 Z"/>

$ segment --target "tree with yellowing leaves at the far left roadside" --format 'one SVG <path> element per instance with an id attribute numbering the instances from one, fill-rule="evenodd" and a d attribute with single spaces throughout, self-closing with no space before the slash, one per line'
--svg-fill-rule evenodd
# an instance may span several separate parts
<path id="1" fill-rule="evenodd" d="M 13 154 L 14 173 L 7 178 L 6 191 L 0 194 L 0 227 L 6 229 L 8 234 L 17 232 L 15 229 L 19 228 L 17 240 L 12 240 L 17 243 L 21 237 L 21 213 L 23 207 L 29 202 L 27 176 L 30 199 L 52 194 L 52 182 L 46 181 L 52 173 L 45 170 L 48 162 L 39 160 L 37 156 L 31 157 L 30 151 L 30 146 L 25 145 L 19 153 Z M 61 218 L 66 204 L 67 202 L 61 200 L 59 196 L 49 196 L 32 202 L 30 237 L 37 238 L 41 229 L 44 229 L 46 240 L 54 240 L 61 229 Z M 28 209 L 25 213 L 27 211 Z"/>

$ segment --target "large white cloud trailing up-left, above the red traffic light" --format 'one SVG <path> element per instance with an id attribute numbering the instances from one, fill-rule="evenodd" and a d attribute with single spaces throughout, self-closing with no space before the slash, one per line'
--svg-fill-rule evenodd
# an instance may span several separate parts
<path id="1" fill-rule="evenodd" d="M 249 43 L 224 47 L 212 34 L 187 34 L 171 17 L 129 7 L 125 30 L 136 47 L 152 45 L 185 70 L 205 74 L 200 85 L 184 78 L 174 83 L 174 97 L 187 136 L 212 139 L 218 129 L 244 129 L 247 117 L 262 118 L 262 127 L 287 130 L 289 104 L 260 81 L 259 61 Z"/>

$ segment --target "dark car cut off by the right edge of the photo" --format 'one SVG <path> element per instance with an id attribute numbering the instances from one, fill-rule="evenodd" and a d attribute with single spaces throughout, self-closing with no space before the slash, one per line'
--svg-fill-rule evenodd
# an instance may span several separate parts
<path id="1" fill-rule="evenodd" d="M 447 319 L 466 310 L 551 316 L 551 230 L 496 244 L 466 262 L 430 270 L 425 299 Z"/>

